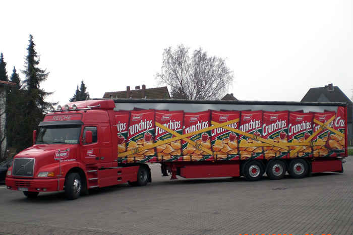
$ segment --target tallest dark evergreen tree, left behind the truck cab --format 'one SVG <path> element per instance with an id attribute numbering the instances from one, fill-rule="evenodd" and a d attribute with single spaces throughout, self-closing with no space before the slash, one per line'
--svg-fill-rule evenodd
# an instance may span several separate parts
<path id="1" fill-rule="evenodd" d="M 49 73 L 38 68 L 40 58 L 35 51 L 32 35 L 29 35 L 28 41 L 26 69 L 21 71 L 25 75 L 25 80 L 21 89 L 11 89 L 8 99 L 8 143 L 9 147 L 14 147 L 17 152 L 32 145 L 32 133 L 38 129 L 44 113 L 52 105 L 44 100 L 52 93 L 40 89 L 40 83 L 47 79 Z M 11 81 L 21 83 L 15 68 Z"/>

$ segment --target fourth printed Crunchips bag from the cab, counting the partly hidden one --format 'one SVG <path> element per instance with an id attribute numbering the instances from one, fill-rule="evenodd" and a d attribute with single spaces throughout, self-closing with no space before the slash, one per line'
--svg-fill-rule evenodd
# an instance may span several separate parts
<path id="1" fill-rule="evenodd" d="M 204 131 L 205 128 L 210 127 L 210 114 L 210 110 L 184 113 L 183 135 L 194 133 L 187 137 L 189 141 L 182 140 L 184 161 L 197 161 L 205 159 L 204 155 L 212 155 L 211 131 Z"/>

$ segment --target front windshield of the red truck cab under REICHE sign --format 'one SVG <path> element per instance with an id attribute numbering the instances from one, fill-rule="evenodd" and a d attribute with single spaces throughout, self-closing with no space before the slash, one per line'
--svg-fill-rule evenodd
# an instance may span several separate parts
<path id="1" fill-rule="evenodd" d="M 50 125 L 40 128 L 36 144 L 78 144 L 81 125 Z"/>

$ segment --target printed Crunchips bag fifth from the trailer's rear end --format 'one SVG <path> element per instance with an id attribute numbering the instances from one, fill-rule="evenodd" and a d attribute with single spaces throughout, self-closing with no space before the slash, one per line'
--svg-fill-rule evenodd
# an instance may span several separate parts
<path id="1" fill-rule="evenodd" d="M 257 146 L 262 143 L 259 141 L 262 133 L 262 113 L 262 110 L 241 111 L 239 130 L 248 133 L 239 135 L 239 152 L 242 160 L 263 157 L 262 147 Z"/>

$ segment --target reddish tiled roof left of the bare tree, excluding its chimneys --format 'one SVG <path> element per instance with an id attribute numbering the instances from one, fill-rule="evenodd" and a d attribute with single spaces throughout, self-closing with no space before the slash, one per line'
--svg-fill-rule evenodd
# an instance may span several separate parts
<path id="1" fill-rule="evenodd" d="M 108 99 L 110 95 L 113 99 L 126 99 L 127 91 L 112 91 L 105 92 L 103 98 Z M 139 90 L 130 90 L 130 96 L 133 99 L 143 99 L 142 97 L 142 89 Z M 156 88 L 148 88 L 146 89 L 146 98 L 147 99 L 170 99 L 168 88 L 167 87 L 156 87 Z"/>

